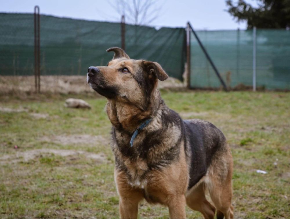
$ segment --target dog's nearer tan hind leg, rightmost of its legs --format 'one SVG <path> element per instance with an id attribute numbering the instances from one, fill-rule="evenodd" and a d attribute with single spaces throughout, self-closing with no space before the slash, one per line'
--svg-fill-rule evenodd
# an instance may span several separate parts
<path id="1" fill-rule="evenodd" d="M 218 218 L 233 218 L 232 172 L 233 161 L 228 149 L 226 153 L 220 154 L 218 159 L 213 160 L 206 180 L 211 200 L 218 211 Z"/>

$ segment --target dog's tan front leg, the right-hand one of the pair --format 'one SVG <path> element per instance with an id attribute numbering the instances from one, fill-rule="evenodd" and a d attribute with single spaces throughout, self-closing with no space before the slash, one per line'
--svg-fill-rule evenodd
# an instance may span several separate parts
<path id="1" fill-rule="evenodd" d="M 184 195 L 174 196 L 168 203 L 170 218 L 185 218 L 185 197 Z"/>

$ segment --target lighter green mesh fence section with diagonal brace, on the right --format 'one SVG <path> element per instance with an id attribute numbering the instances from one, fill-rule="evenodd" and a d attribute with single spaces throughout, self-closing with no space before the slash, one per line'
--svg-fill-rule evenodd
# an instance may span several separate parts
<path id="1" fill-rule="evenodd" d="M 252 86 L 253 31 L 196 31 L 228 87 Z M 257 30 L 256 84 L 290 89 L 290 31 Z M 219 88 L 221 83 L 191 33 L 191 87 Z"/>

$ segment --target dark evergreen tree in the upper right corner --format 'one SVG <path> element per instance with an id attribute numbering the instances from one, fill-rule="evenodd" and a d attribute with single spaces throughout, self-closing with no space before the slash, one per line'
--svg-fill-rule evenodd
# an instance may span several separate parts
<path id="1" fill-rule="evenodd" d="M 290 0 L 256 0 L 258 8 L 254 8 L 244 0 L 233 3 L 227 0 L 226 11 L 239 21 L 247 21 L 247 28 L 289 28 Z"/>

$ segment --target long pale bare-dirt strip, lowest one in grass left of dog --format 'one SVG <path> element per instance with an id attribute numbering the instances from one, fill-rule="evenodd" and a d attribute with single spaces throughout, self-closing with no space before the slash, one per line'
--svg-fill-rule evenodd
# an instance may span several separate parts
<path id="1" fill-rule="evenodd" d="M 88 153 L 85 151 L 75 151 L 75 150 L 57 150 L 57 149 L 35 149 L 35 150 L 29 150 L 29 151 L 21 151 L 17 152 L 12 155 L 4 155 L 0 157 L 0 164 L 7 164 L 7 163 L 17 163 L 20 161 L 27 162 L 29 160 L 32 160 L 36 158 L 39 155 L 43 155 L 46 153 L 52 153 L 55 155 L 59 155 L 62 157 L 66 156 L 72 156 L 72 155 L 84 155 L 86 158 L 90 158 L 93 160 L 97 160 L 98 162 L 105 162 L 106 157 L 104 154 L 94 154 L 94 153 Z"/>

